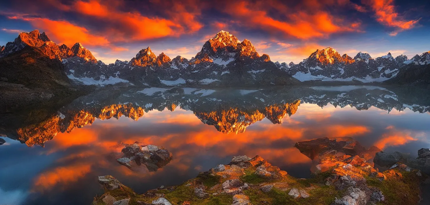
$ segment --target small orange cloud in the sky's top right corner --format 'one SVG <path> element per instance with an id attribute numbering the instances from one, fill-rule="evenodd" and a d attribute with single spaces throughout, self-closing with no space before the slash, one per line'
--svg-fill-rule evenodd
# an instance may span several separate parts
<path id="1" fill-rule="evenodd" d="M 396 30 L 390 33 L 390 36 L 396 36 L 397 33 L 412 29 L 418 23 L 418 20 L 405 20 L 405 18 L 396 12 L 393 0 L 362 0 L 369 5 L 375 12 L 376 20 L 388 27 L 395 27 Z"/>

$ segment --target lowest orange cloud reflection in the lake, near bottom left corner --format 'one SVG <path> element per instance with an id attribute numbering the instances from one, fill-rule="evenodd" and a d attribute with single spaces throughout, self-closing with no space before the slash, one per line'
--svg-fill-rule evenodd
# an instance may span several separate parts
<path id="1" fill-rule="evenodd" d="M 57 184 L 67 185 L 78 181 L 91 170 L 90 164 L 57 167 L 40 174 L 34 181 L 35 190 L 49 190 Z"/>

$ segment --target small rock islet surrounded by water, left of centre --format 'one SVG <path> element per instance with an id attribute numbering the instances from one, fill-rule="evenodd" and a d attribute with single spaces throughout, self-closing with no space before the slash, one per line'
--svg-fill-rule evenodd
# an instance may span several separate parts
<path id="1" fill-rule="evenodd" d="M 125 148 L 121 150 L 124 155 L 117 162 L 136 172 L 156 172 L 173 158 L 171 152 L 160 146 L 140 142 L 124 145 Z"/>

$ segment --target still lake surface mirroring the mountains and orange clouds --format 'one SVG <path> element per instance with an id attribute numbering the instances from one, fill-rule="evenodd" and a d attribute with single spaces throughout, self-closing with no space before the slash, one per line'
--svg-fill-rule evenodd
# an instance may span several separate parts
<path id="1" fill-rule="evenodd" d="M 89 204 L 102 193 L 97 176 L 113 175 L 143 193 L 238 155 L 258 154 L 289 175 L 309 177 L 311 161 L 294 145 L 321 137 L 350 136 L 367 148 L 416 155 L 429 146 L 429 109 L 429 91 L 410 87 L 106 88 L 41 121 L 0 128 L 10 138 L 0 146 L 8 156 L 0 160 L 0 175 L 8 176 L 0 203 L 13 202 L 2 202 L 5 196 Z M 163 146 L 173 160 L 156 172 L 117 163 L 120 143 L 136 141 Z"/>

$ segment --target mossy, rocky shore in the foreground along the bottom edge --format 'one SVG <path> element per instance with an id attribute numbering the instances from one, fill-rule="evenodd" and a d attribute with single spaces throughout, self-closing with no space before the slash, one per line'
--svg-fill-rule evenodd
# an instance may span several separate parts
<path id="1" fill-rule="evenodd" d="M 298 179 L 258 155 L 238 156 L 178 186 L 140 195 L 102 176 L 105 193 L 92 205 L 418 205 L 420 200 L 424 176 L 404 164 L 381 173 L 359 156 L 325 154 L 318 163 L 321 172 Z"/>

